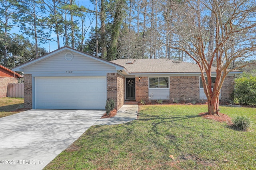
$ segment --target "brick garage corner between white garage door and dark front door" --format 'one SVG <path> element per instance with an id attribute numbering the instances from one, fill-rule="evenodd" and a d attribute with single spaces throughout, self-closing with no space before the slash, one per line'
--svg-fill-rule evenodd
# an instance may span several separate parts
<path id="1" fill-rule="evenodd" d="M 107 100 L 113 99 L 118 110 L 124 105 L 125 79 L 118 73 L 107 73 Z"/>

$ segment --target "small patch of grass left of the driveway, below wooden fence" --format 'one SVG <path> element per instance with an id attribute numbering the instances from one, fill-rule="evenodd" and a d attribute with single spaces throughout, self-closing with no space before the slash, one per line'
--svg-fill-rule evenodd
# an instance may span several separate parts
<path id="1" fill-rule="evenodd" d="M 24 107 L 24 98 L 0 98 L 0 118 L 19 113 Z"/>

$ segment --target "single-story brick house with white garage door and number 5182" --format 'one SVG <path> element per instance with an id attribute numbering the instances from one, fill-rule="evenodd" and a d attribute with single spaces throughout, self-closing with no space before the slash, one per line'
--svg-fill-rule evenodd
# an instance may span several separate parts
<path id="1" fill-rule="evenodd" d="M 214 68 L 213 68 L 214 69 Z M 205 98 L 197 64 L 169 59 L 106 61 L 70 47 L 62 47 L 13 68 L 24 72 L 24 103 L 33 109 L 116 109 L 126 100 Z M 215 70 L 212 70 L 214 75 Z M 224 82 L 220 98 L 228 100 L 234 71 Z"/>

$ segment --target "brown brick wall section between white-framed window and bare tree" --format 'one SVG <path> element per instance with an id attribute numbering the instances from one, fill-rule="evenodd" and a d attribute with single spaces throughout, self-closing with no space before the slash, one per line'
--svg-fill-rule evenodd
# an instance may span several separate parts
<path id="1" fill-rule="evenodd" d="M 170 99 L 199 99 L 199 76 L 170 77 Z"/>

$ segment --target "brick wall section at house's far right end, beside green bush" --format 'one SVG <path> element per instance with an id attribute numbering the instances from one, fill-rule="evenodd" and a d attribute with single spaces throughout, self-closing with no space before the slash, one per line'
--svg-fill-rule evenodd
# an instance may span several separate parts
<path id="1" fill-rule="evenodd" d="M 221 100 L 233 100 L 231 94 L 234 91 L 234 76 L 226 76 L 221 88 Z"/>

